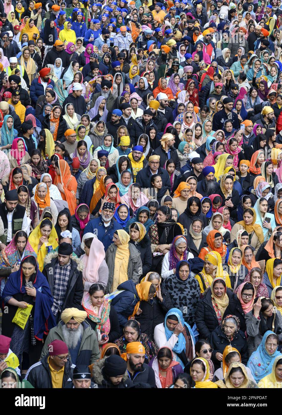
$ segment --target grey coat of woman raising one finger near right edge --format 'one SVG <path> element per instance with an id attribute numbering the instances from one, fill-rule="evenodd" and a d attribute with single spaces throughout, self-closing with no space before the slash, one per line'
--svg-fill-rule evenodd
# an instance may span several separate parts
<path id="1" fill-rule="evenodd" d="M 282 328 L 282 315 L 280 311 L 276 310 L 276 317 L 278 319 L 278 327 Z M 247 327 L 247 346 L 248 346 L 248 357 L 255 352 L 256 349 L 258 349 L 258 346 L 260 345 L 263 335 L 260 334 L 259 327 L 260 327 L 260 320 L 258 320 L 254 315 L 253 311 L 248 312 L 245 315 L 246 320 L 246 327 Z M 282 340 L 282 333 L 277 334 L 280 342 Z"/>

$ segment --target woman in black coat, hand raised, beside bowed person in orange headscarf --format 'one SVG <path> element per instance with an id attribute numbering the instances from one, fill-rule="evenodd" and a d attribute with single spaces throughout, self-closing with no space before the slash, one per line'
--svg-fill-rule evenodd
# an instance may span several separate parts
<path id="1" fill-rule="evenodd" d="M 157 288 L 156 295 L 152 300 L 140 303 L 141 314 L 135 315 L 135 319 L 140 323 L 141 332 L 147 334 L 151 339 L 154 337 L 154 330 L 158 324 L 164 323 L 166 313 L 173 308 L 170 295 L 160 286 L 160 276 L 157 272 L 150 272 L 144 278 Z"/>

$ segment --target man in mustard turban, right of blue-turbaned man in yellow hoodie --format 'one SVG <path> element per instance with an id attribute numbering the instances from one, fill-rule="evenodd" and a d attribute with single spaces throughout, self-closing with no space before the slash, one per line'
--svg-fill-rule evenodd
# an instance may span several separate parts
<path id="1" fill-rule="evenodd" d="M 137 173 L 136 183 L 140 184 L 141 188 L 150 188 L 150 177 L 152 176 L 152 174 L 157 173 L 162 178 L 163 186 L 171 186 L 168 172 L 164 168 L 160 167 L 160 156 L 158 156 L 157 154 L 152 154 L 149 157 L 147 166 L 145 168 L 142 168 L 142 170 L 140 170 Z"/>

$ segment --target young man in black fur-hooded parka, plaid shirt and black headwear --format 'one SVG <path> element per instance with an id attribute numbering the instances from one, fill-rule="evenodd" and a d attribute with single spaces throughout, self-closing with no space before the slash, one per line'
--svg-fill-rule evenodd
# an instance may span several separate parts
<path id="1" fill-rule="evenodd" d="M 52 312 L 57 321 L 65 308 L 79 308 L 83 298 L 83 266 L 80 261 L 71 259 L 72 254 L 71 244 L 62 242 L 58 247 L 58 254 L 46 257 L 42 271 L 54 298 Z"/>

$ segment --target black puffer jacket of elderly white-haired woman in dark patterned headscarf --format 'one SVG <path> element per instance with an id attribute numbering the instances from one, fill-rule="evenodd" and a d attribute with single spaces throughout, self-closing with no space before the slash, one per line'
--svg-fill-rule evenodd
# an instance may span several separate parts
<path id="1" fill-rule="evenodd" d="M 219 369 L 220 361 L 216 359 L 216 353 L 219 352 L 223 354 L 226 346 L 235 347 L 238 352 L 241 354 L 241 360 L 243 364 L 248 362 L 248 349 L 247 349 L 247 339 L 245 334 L 239 330 L 237 334 L 233 337 L 231 342 L 227 339 L 226 334 L 221 329 L 221 326 L 216 327 L 216 329 L 211 333 L 210 337 L 211 347 L 214 349 L 212 352 L 212 361 L 214 362 L 214 368 Z"/>

